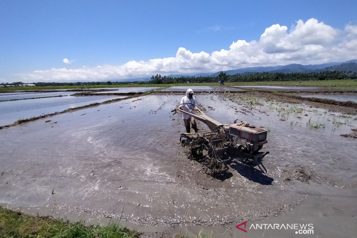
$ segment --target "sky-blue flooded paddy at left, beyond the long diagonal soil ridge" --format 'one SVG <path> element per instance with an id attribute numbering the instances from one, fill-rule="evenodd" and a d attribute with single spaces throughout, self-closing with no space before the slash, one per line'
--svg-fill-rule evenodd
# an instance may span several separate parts
<path id="1" fill-rule="evenodd" d="M 84 106 L 119 97 L 121 96 L 65 96 L 0 102 L 0 126 L 9 125 L 19 119 L 60 112 L 71 107 Z"/>

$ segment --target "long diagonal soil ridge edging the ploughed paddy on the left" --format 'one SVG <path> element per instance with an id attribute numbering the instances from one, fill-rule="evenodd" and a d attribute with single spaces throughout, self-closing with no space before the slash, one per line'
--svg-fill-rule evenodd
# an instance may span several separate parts
<path id="1" fill-rule="evenodd" d="M 60 112 L 54 112 L 54 113 L 49 113 L 49 114 L 41 115 L 41 116 L 37 116 L 37 117 L 31 117 L 31 118 L 26 118 L 26 119 L 20 119 L 20 120 L 18 120 L 18 121 L 16 121 L 16 122 L 12 123 L 12 124 L 10 124 L 10 125 L 0 126 L 0 130 L 1 130 L 1 129 L 4 129 L 4 128 L 7 128 L 7 127 L 11 127 L 11 126 L 17 126 L 17 125 L 20 125 L 20 124 L 23 124 L 23 123 L 26 123 L 26 122 L 36 121 L 36 120 L 39 120 L 39 119 L 42 119 L 42 118 L 47 118 L 47 117 L 59 115 L 59 114 L 66 113 L 66 112 L 77 111 L 77 110 L 81 110 L 81 109 L 84 109 L 84 108 L 95 107 L 95 106 L 99 106 L 99 105 L 102 105 L 102 104 L 117 102 L 117 101 L 121 101 L 121 100 L 124 100 L 124 99 L 129 99 L 129 98 L 133 98 L 133 97 L 138 97 L 138 96 L 141 96 L 141 94 L 139 94 L 139 95 L 134 95 L 134 96 L 131 96 L 131 97 L 114 98 L 114 99 L 107 100 L 107 101 L 104 101 L 104 102 L 96 102 L 96 103 L 91 103 L 91 104 L 84 105 L 84 106 L 68 108 L 68 109 L 63 110 L 63 111 L 60 111 Z"/>

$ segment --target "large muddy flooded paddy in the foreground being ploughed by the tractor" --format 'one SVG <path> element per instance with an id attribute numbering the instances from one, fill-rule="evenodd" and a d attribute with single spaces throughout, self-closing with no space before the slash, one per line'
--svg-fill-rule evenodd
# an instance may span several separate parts
<path id="1" fill-rule="evenodd" d="M 181 97 L 130 98 L 0 130 L 0 203 L 197 233 L 299 212 L 356 215 L 346 209 L 357 199 L 356 139 L 340 136 L 357 127 L 356 115 L 255 93 L 196 95 L 219 122 L 268 129 L 268 172 L 236 161 L 220 180 L 180 146 L 185 127 L 171 110 Z M 323 204 L 336 209 L 321 211 Z"/>

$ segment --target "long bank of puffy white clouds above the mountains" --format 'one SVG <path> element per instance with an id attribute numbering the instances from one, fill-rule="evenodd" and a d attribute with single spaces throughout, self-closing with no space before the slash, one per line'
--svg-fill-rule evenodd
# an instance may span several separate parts
<path id="1" fill-rule="evenodd" d="M 344 29 L 312 18 L 298 20 L 290 30 L 279 24 L 265 29 L 259 40 L 233 41 L 229 49 L 191 52 L 180 47 L 176 56 L 149 61 L 129 61 L 123 65 L 82 66 L 78 69 L 36 70 L 21 74 L 23 81 L 103 81 L 146 77 L 160 73 L 190 74 L 216 72 L 253 66 L 323 64 L 357 59 L 357 25 Z M 65 64 L 71 61 L 64 59 Z"/>

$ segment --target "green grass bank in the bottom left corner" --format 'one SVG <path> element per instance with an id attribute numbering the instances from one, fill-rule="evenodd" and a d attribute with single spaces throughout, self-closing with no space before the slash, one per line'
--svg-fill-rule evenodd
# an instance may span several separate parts
<path id="1" fill-rule="evenodd" d="M 137 238 L 139 235 L 119 223 L 85 226 L 84 222 L 32 217 L 0 207 L 0 237 L 3 238 Z"/>

